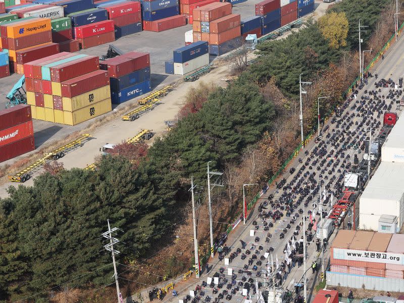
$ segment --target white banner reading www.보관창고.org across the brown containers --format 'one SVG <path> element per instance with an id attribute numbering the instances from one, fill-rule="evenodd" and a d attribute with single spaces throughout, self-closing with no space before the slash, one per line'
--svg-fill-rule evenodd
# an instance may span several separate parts
<path id="1" fill-rule="evenodd" d="M 404 255 L 334 248 L 334 259 L 404 265 Z"/>

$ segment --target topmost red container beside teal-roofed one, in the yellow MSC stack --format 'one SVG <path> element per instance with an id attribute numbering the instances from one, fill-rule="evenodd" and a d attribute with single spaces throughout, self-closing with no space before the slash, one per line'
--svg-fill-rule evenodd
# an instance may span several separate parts
<path id="1" fill-rule="evenodd" d="M 86 56 L 51 67 L 51 81 L 60 83 L 96 70 L 99 70 L 98 56 Z"/>

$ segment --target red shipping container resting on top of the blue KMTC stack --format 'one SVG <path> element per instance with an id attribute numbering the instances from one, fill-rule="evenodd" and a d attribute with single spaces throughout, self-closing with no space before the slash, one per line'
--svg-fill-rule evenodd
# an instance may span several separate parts
<path id="1" fill-rule="evenodd" d="M 150 66 L 150 55 L 135 51 L 107 59 L 99 64 L 100 69 L 108 71 L 112 78 L 119 78 L 148 66 Z"/>

